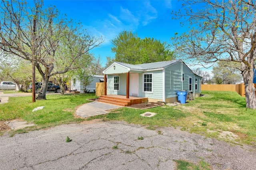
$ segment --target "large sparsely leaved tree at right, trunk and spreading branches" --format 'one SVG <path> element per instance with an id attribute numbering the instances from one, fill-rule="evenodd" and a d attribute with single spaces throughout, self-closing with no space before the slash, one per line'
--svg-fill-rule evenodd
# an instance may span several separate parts
<path id="1" fill-rule="evenodd" d="M 193 63 L 236 62 L 245 84 L 246 107 L 256 109 L 252 83 L 256 59 L 256 4 L 241 1 L 184 1 L 175 18 L 192 25 L 173 38 L 177 54 Z M 202 65 L 204 65 L 202 64 Z"/>

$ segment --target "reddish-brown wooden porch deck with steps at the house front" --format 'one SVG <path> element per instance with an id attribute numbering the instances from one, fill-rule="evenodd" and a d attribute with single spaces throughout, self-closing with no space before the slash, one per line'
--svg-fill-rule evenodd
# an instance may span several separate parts
<path id="1" fill-rule="evenodd" d="M 122 95 L 107 95 L 107 96 L 100 96 L 97 102 L 103 102 L 108 104 L 114 104 L 117 106 L 131 106 L 133 104 L 140 104 L 143 102 L 148 101 L 148 98 L 139 98 L 134 96 L 129 96 L 127 99 L 126 96 Z"/>

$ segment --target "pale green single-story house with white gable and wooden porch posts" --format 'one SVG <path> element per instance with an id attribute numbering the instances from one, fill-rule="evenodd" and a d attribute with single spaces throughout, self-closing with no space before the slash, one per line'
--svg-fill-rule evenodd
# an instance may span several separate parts
<path id="1" fill-rule="evenodd" d="M 200 96 L 202 77 L 194 74 L 182 60 L 146 64 L 114 62 L 104 71 L 105 94 L 148 98 L 149 102 L 178 101 L 176 90 Z M 108 82 L 106 82 L 108 80 Z"/>

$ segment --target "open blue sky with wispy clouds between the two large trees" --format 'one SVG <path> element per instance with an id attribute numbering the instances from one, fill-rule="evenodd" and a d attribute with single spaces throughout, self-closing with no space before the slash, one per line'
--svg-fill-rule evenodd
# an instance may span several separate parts
<path id="1" fill-rule="evenodd" d="M 53 5 L 67 18 L 81 21 L 93 35 L 103 36 L 101 47 L 93 49 L 102 63 L 106 57 L 114 57 L 111 39 L 124 30 L 132 30 L 138 37 L 151 37 L 170 42 L 174 33 L 184 32 L 180 21 L 172 20 L 172 10 L 181 8 L 176 0 L 45 0 L 44 6 Z"/>

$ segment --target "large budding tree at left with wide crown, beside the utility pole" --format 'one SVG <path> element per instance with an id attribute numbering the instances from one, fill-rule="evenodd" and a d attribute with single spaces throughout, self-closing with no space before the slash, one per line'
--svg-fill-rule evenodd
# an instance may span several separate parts
<path id="1" fill-rule="evenodd" d="M 76 69 L 80 57 L 103 39 L 82 30 L 80 23 L 60 18 L 55 7 L 43 8 L 42 0 L 27 5 L 26 1 L 2 0 L 0 49 L 36 66 L 43 82 L 38 99 L 46 99 L 49 78 Z M 65 61 L 63 67 L 54 69 L 61 60 Z"/>

